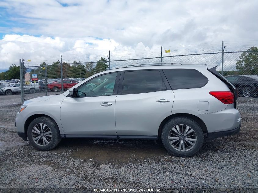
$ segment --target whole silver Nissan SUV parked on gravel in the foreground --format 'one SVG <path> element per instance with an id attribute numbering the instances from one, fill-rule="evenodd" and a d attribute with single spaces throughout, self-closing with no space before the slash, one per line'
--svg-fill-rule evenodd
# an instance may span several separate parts
<path id="1" fill-rule="evenodd" d="M 17 132 L 38 150 L 61 138 L 161 139 L 172 155 L 191 156 L 204 133 L 240 131 L 236 89 L 215 69 L 170 62 L 107 70 L 63 94 L 25 101 Z"/>

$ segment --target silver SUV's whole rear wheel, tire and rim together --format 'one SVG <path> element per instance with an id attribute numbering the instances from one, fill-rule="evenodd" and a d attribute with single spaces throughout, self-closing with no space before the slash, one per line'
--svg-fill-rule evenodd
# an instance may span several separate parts
<path id="1" fill-rule="evenodd" d="M 202 148 L 203 132 L 194 120 L 176 117 L 164 125 L 161 139 L 164 147 L 172 155 L 189 157 Z"/>

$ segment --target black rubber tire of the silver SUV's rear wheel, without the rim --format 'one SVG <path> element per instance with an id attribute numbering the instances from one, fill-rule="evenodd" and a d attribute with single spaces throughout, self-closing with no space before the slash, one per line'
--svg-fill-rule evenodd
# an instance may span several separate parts
<path id="1" fill-rule="evenodd" d="M 181 124 L 191 127 L 196 134 L 195 145 L 188 151 L 176 150 L 169 143 L 169 138 L 168 138 L 169 132 L 171 131 L 171 129 L 173 127 L 175 127 L 176 125 L 181 125 Z M 164 147 L 166 148 L 166 150 L 169 153 L 171 153 L 172 155 L 178 156 L 178 157 L 190 157 L 190 156 L 193 156 L 194 154 L 196 154 L 197 152 L 199 152 L 199 150 L 202 148 L 203 132 L 202 132 L 202 128 L 200 127 L 200 125 L 198 123 L 196 123 L 196 121 L 194 121 L 190 118 L 187 118 L 187 117 L 176 117 L 176 118 L 169 120 L 164 125 L 164 127 L 162 129 L 162 133 L 161 133 L 161 139 L 162 139 L 162 143 L 163 143 Z"/>

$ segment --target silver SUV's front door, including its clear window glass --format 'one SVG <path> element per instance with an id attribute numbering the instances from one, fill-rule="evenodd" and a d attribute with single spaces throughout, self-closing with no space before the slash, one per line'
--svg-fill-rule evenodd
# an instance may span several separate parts
<path id="1" fill-rule="evenodd" d="M 116 138 L 115 85 L 117 73 L 100 75 L 78 87 L 76 97 L 66 97 L 61 105 L 61 123 L 66 137 Z M 98 85 L 94 84 L 100 79 Z M 89 85 L 96 87 L 89 87 Z M 89 89 L 90 88 L 90 89 Z"/>

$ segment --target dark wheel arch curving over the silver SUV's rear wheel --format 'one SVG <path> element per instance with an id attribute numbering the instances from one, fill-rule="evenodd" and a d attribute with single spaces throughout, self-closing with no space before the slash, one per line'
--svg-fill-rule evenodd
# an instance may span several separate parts
<path id="1" fill-rule="evenodd" d="M 203 120 L 201 120 L 198 116 L 195 116 L 195 115 L 192 115 L 192 114 L 188 114 L 188 113 L 176 113 L 176 114 L 169 115 L 168 117 L 166 117 L 166 118 L 160 123 L 160 125 L 159 125 L 159 127 L 158 127 L 158 137 L 159 137 L 159 138 L 161 137 L 162 128 L 163 128 L 163 126 L 165 125 L 166 122 L 168 122 L 170 119 L 173 119 L 173 118 L 175 118 L 175 117 L 180 117 L 180 116 L 188 117 L 188 118 L 193 119 L 194 121 L 196 121 L 196 122 L 200 125 L 200 127 L 202 128 L 202 131 L 203 131 L 204 133 L 207 133 L 207 132 L 208 132 L 205 123 L 204 123 Z"/>

